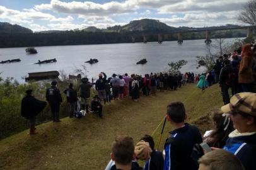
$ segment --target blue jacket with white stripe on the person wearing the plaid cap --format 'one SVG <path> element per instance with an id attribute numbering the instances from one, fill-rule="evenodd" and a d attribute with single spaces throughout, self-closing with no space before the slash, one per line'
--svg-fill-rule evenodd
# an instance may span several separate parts
<path id="1" fill-rule="evenodd" d="M 230 137 L 226 140 L 226 145 L 224 145 L 223 149 L 232 152 L 238 157 L 246 170 L 256 169 L 256 133 L 247 136 Z"/>

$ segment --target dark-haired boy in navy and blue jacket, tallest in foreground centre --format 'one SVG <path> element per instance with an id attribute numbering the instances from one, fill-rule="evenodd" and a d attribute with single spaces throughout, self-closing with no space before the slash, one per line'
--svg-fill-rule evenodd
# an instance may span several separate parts
<path id="1" fill-rule="evenodd" d="M 173 131 L 165 143 L 165 170 L 198 169 L 190 156 L 194 144 L 200 144 L 202 137 L 197 127 L 185 123 L 186 118 L 182 102 L 173 101 L 167 106 L 166 119 L 173 126 Z"/>

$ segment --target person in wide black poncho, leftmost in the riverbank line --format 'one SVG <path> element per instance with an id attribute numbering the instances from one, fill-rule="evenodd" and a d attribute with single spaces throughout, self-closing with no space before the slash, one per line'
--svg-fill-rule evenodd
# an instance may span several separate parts
<path id="1" fill-rule="evenodd" d="M 21 101 L 21 116 L 30 120 L 30 135 L 35 134 L 35 117 L 46 105 L 46 101 L 40 101 L 32 96 L 32 89 L 26 91 L 26 96 Z"/>

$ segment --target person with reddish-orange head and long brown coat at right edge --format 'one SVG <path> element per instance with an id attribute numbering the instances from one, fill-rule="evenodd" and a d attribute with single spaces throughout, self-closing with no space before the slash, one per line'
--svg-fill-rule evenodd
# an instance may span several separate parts
<path id="1" fill-rule="evenodd" d="M 243 92 L 252 92 L 252 65 L 253 51 L 249 43 L 243 45 L 241 51 L 241 64 L 238 72 L 238 82 L 241 84 Z"/>

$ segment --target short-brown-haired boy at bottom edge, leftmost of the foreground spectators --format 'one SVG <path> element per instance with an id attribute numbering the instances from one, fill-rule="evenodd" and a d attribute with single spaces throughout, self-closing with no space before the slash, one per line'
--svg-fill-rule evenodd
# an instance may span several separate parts
<path id="1" fill-rule="evenodd" d="M 111 161 L 105 170 L 142 170 L 137 164 L 136 154 L 134 153 L 134 141 L 132 137 L 118 136 L 112 143 Z"/>

